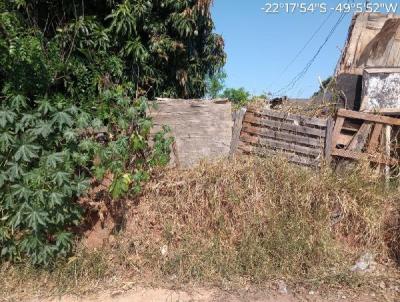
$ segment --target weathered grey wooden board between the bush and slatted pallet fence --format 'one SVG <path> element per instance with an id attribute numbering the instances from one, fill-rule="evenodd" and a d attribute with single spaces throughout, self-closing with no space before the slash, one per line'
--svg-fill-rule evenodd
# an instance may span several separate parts
<path id="1" fill-rule="evenodd" d="M 171 164 L 187 168 L 202 159 L 229 155 L 232 140 L 232 107 L 227 101 L 165 100 L 157 101 L 151 110 L 154 128 L 163 125 L 172 130 L 175 138 Z"/>

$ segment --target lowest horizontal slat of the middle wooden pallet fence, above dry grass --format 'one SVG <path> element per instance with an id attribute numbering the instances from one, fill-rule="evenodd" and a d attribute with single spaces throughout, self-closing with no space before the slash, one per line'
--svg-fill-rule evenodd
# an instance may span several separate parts
<path id="1" fill-rule="evenodd" d="M 312 159 L 312 158 L 301 156 L 301 155 L 294 154 L 294 153 L 287 153 L 284 151 L 269 150 L 269 149 L 265 149 L 262 147 L 250 146 L 250 145 L 244 144 L 243 142 L 239 144 L 238 149 L 244 153 L 255 154 L 258 156 L 268 156 L 268 155 L 284 156 L 287 158 L 287 160 L 289 162 L 303 165 L 303 166 L 318 167 L 320 164 L 320 160 L 318 158 Z"/>

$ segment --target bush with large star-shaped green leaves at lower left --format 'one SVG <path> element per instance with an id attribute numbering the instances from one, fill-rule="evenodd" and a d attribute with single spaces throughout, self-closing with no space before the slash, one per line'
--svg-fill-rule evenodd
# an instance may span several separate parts
<path id="1" fill-rule="evenodd" d="M 0 118 L 0 242 L 1 257 L 17 260 L 29 255 L 34 264 L 47 264 L 54 255 L 71 250 L 66 226 L 80 222 L 81 210 L 71 199 L 88 181 L 77 170 L 77 139 L 64 139 L 77 124 L 60 96 L 28 99 L 3 89 Z"/>

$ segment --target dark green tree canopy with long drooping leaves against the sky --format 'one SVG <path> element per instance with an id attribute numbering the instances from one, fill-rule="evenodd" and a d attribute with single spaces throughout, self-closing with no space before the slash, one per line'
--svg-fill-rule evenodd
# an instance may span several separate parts
<path id="1" fill-rule="evenodd" d="M 4 12 L 43 35 L 42 46 L 57 39 L 63 60 L 88 68 L 100 55 L 97 64 L 115 56 L 126 79 L 150 97 L 201 97 L 206 77 L 225 62 L 211 0 L 1 1 Z"/>

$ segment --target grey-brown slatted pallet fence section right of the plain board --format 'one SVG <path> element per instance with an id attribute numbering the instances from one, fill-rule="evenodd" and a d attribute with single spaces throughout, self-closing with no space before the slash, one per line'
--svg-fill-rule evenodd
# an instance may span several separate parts
<path id="1" fill-rule="evenodd" d="M 318 167 L 330 158 L 331 119 L 248 109 L 243 118 L 238 152 L 261 156 L 284 155 L 290 162 Z"/>

